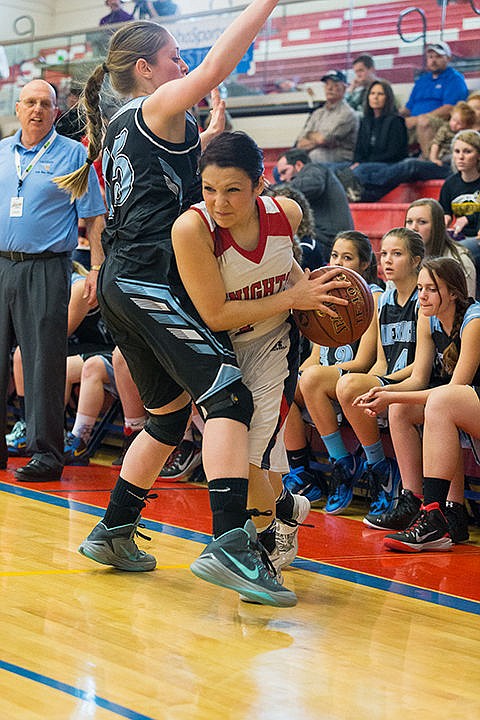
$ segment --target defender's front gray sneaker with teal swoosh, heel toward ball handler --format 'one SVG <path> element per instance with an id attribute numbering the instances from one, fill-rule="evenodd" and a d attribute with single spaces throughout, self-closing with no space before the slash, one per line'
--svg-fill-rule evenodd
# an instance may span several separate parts
<path id="1" fill-rule="evenodd" d="M 262 559 L 263 548 L 251 520 L 212 540 L 190 566 L 194 575 L 240 593 L 260 605 L 293 607 L 297 596 L 282 587 Z"/>

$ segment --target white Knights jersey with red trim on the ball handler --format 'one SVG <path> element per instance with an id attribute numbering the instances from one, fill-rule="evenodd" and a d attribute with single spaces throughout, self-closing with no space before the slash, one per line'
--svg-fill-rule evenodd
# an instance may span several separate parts
<path id="1" fill-rule="evenodd" d="M 293 237 L 287 216 L 271 197 L 257 198 L 257 207 L 260 232 L 254 250 L 244 250 L 228 229 L 216 225 L 204 202 L 191 208 L 201 215 L 212 235 L 228 300 L 254 300 L 283 292 L 292 269 Z M 250 342 L 282 325 L 288 315 L 286 311 L 262 322 L 236 328 L 230 331 L 230 338 L 234 345 Z"/>

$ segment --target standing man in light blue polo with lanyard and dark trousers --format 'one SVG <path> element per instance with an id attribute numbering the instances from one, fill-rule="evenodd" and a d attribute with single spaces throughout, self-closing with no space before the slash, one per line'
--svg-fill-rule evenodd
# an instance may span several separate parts
<path id="1" fill-rule="evenodd" d="M 78 219 L 85 219 L 91 245 L 85 292 L 94 305 L 105 205 L 93 168 L 88 192 L 73 203 L 53 181 L 85 162 L 82 144 L 54 129 L 53 87 L 44 80 L 25 85 L 16 113 L 20 130 L 0 142 L 0 467 L 7 462 L 5 399 L 16 340 L 32 459 L 15 477 L 38 482 L 58 480 L 63 469 L 67 316 Z"/>

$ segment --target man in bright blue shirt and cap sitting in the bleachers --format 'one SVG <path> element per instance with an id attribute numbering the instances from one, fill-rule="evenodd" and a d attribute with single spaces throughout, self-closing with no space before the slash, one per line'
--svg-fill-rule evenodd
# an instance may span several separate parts
<path id="1" fill-rule="evenodd" d="M 448 120 L 454 105 L 466 100 L 468 89 L 461 73 L 449 66 L 449 45 L 439 41 L 427 45 L 428 72 L 416 80 L 400 115 L 410 131 L 410 141 L 420 145 L 422 157 L 429 159 L 430 145 L 441 123 Z"/>

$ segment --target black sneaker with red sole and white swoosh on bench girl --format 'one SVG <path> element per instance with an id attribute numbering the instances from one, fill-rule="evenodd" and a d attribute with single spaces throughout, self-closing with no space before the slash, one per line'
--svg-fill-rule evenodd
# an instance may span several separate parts
<path id="1" fill-rule="evenodd" d="M 383 543 L 388 550 L 399 552 L 451 550 L 453 545 L 447 520 L 438 503 L 422 507 L 410 527 L 403 532 L 386 535 Z"/>

